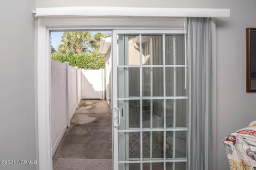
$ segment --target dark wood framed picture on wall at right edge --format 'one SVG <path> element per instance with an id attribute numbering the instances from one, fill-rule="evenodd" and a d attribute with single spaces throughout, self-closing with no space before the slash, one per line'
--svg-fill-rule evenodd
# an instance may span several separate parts
<path id="1" fill-rule="evenodd" d="M 246 91 L 256 92 L 256 28 L 246 28 Z"/>

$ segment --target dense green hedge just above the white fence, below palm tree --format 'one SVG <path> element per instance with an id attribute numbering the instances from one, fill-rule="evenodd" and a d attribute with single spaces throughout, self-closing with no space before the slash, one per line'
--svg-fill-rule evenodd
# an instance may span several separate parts
<path id="1" fill-rule="evenodd" d="M 81 53 L 81 54 L 61 54 L 53 53 L 53 60 L 59 62 L 68 62 L 71 66 L 77 66 L 79 69 L 104 69 L 105 56 L 98 53 Z"/>

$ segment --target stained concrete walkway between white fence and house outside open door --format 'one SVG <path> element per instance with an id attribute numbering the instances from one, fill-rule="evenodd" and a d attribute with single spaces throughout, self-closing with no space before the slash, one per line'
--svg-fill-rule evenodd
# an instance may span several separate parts
<path id="1" fill-rule="evenodd" d="M 82 100 L 53 156 L 59 158 L 112 159 L 111 110 L 107 101 Z"/>

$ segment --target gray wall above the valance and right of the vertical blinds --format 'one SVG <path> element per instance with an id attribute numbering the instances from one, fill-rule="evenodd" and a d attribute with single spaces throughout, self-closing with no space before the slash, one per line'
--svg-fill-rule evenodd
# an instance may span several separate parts
<path id="1" fill-rule="evenodd" d="M 17 1 L 18 2 L 18 1 Z M 5 1 L 7 3 L 7 1 Z M 13 4 L 13 2 L 10 2 Z M 230 18 L 217 19 L 217 169 L 228 169 L 222 139 L 256 119 L 256 94 L 245 92 L 245 28 L 256 27 L 256 1 L 247 0 L 130 0 L 82 1 L 35 0 L 36 7 L 57 6 L 137 6 L 230 8 Z M 18 5 L 17 5 L 18 6 Z M 13 11 L 13 10 L 12 10 Z M 28 11 L 27 11 L 28 12 Z M 19 15 L 21 16 L 21 15 Z M 25 24 L 22 24 L 23 27 Z M 31 29 L 31 28 L 30 28 Z M 27 42 L 28 43 L 28 42 Z M 24 45 L 22 45 L 24 46 Z M 27 56 L 28 57 L 28 56 Z M 15 58 L 16 59 L 16 58 Z M 12 59 L 8 60 L 11 62 Z M 18 60 L 18 59 L 17 59 Z M 16 62 L 15 60 L 14 62 Z M 24 61 L 22 61 L 24 62 Z M 29 61 L 27 61 L 29 62 Z M 31 67 L 28 63 L 28 68 Z M 27 68 L 23 68 L 27 69 Z M 3 74 L 3 73 L 0 73 Z M 28 77 L 30 73 L 26 73 Z M 6 78 L 11 79 L 11 78 Z M 29 77 L 28 81 L 33 80 Z M 19 94 L 23 92 L 19 92 Z M 20 95 L 19 95 L 20 96 Z M 26 96 L 26 98 L 28 98 Z M 24 101 L 24 100 L 23 100 Z M 31 104 L 27 102 L 27 104 Z M 22 106 L 23 107 L 23 106 Z M 29 106 L 31 107 L 31 106 Z M 26 111 L 26 110 L 24 110 Z M 30 110 L 29 110 L 30 111 Z M 23 113 L 22 114 L 28 114 Z M 31 122 L 28 122 L 31 124 Z"/>

